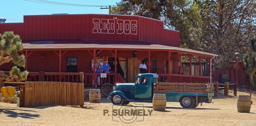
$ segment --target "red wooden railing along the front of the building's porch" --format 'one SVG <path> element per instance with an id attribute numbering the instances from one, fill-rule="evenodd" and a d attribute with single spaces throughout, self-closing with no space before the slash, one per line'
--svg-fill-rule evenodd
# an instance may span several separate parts
<path id="1" fill-rule="evenodd" d="M 84 85 L 92 86 L 98 84 L 98 76 L 100 73 L 58 73 L 58 72 L 29 72 L 27 81 L 52 81 L 52 82 L 80 82 L 81 73 L 84 75 Z M 5 71 L 4 74 L 9 75 L 9 72 Z M 184 74 L 158 74 L 159 82 L 170 83 L 204 83 L 209 82 L 208 76 L 190 76 Z M 96 80 L 95 80 L 96 78 Z M 95 82 L 94 82 L 95 80 Z M 104 83 L 116 84 L 126 83 L 124 78 L 120 74 L 107 73 L 107 78 L 100 78 L 100 85 Z"/>

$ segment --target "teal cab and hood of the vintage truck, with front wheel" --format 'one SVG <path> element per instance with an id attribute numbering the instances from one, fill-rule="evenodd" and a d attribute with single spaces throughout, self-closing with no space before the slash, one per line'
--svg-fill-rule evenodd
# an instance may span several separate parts
<path id="1" fill-rule="evenodd" d="M 154 82 L 157 74 L 138 74 L 134 83 L 119 83 L 113 87 L 109 99 L 113 104 L 125 104 L 122 101 L 152 102 Z"/>

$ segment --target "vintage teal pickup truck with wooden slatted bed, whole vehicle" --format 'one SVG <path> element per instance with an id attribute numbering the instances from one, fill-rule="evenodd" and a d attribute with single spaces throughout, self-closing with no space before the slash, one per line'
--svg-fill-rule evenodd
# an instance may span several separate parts
<path id="1" fill-rule="evenodd" d="M 139 74 L 135 83 L 116 84 L 108 96 L 114 105 L 129 102 L 152 102 L 154 93 L 166 94 L 167 102 L 180 102 L 183 108 L 196 108 L 199 103 L 212 103 L 213 85 L 207 83 L 161 83 L 157 74 Z"/>

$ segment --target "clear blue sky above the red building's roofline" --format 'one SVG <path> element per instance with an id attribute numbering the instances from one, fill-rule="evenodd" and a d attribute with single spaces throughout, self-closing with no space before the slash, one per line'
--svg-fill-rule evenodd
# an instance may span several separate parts
<path id="1" fill-rule="evenodd" d="M 30 0 L 35 1 L 35 0 Z M 23 15 L 41 14 L 108 14 L 108 9 L 100 7 L 63 6 L 30 2 L 26 0 L 0 0 L 0 18 L 6 18 L 6 23 L 23 22 Z M 69 4 L 84 5 L 116 5 L 121 0 L 48 0 L 51 2 L 62 2 Z"/>

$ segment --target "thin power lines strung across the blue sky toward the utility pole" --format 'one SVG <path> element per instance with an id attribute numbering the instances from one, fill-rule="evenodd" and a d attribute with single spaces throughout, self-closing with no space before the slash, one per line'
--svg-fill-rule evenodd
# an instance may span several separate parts
<path id="1" fill-rule="evenodd" d="M 62 3 L 62 2 L 53 2 L 48 0 L 25 0 L 29 2 L 38 2 L 44 4 L 55 4 L 55 5 L 63 5 L 63 6 L 82 6 L 82 7 L 102 7 L 106 5 L 84 5 L 84 4 L 69 4 L 69 3 Z"/>

